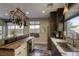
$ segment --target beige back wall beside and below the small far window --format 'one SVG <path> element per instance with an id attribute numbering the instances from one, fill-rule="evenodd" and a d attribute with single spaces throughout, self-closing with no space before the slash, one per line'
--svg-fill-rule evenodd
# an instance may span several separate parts
<path id="1" fill-rule="evenodd" d="M 35 18 L 35 19 L 40 20 L 40 34 L 39 34 L 39 38 L 34 39 L 34 42 L 36 44 L 47 44 L 47 38 L 49 33 L 48 32 L 49 18 Z"/>

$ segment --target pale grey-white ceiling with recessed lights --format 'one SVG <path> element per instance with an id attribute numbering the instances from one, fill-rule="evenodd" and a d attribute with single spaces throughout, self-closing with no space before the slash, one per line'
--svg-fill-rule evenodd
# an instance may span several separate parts
<path id="1" fill-rule="evenodd" d="M 63 6 L 63 3 L 54 3 L 50 7 L 47 7 L 47 3 L 0 3 L 0 18 L 8 19 L 9 11 L 16 7 L 19 7 L 25 13 L 29 12 L 29 14 L 26 14 L 29 18 L 45 18 L 49 17 L 51 11 L 56 11 Z M 45 11 L 45 13 L 42 13 L 42 11 Z"/>

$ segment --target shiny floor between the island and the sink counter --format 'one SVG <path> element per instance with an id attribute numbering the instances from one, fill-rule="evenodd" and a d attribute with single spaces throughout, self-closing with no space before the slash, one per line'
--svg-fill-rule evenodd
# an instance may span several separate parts
<path id="1" fill-rule="evenodd" d="M 31 56 L 51 56 L 50 51 L 47 50 L 47 45 L 45 44 L 35 44 L 34 50 Z"/>

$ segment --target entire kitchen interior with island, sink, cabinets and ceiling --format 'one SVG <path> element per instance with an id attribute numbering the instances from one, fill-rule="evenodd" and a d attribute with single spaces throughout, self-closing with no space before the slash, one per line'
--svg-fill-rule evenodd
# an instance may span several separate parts
<path id="1" fill-rule="evenodd" d="M 0 56 L 79 56 L 79 4 L 0 3 Z"/>

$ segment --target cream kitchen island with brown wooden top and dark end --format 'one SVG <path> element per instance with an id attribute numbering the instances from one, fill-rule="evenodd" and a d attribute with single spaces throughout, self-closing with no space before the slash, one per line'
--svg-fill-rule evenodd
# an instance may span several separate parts
<path id="1" fill-rule="evenodd" d="M 27 38 L 17 40 L 12 43 L 1 45 L 0 56 L 27 56 L 29 55 L 29 53 L 32 51 L 33 46 L 34 46 L 33 38 L 34 37 L 27 37 Z"/>

